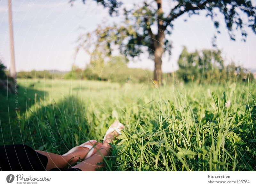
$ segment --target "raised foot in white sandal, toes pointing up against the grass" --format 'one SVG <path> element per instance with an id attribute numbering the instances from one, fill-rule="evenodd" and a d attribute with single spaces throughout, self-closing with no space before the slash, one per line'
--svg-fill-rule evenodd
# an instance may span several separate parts
<path id="1" fill-rule="evenodd" d="M 124 128 L 124 125 L 117 120 L 114 121 L 108 128 L 104 138 L 103 138 L 103 146 L 110 146 L 109 143 L 113 142 L 114 136 L 118 136 L 121 134 L 120 130 Z"/>

